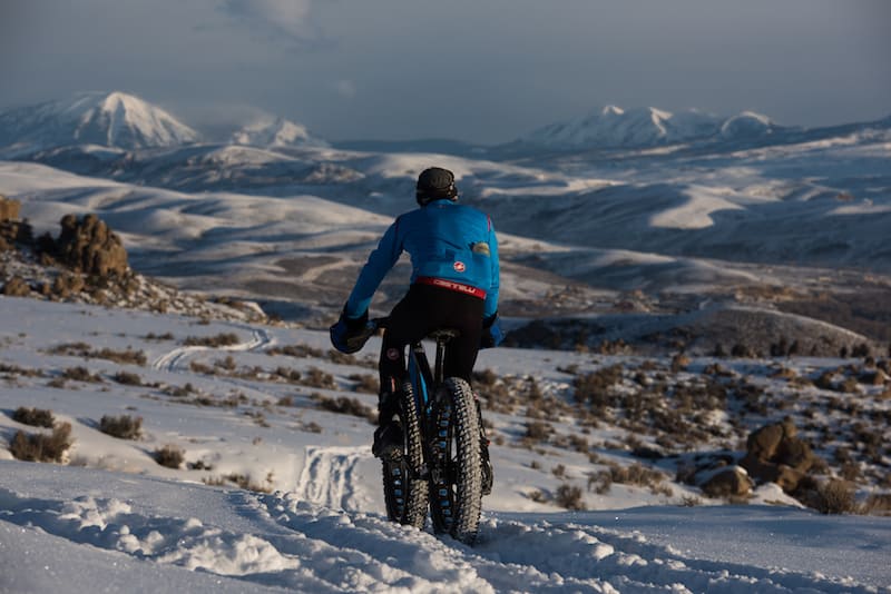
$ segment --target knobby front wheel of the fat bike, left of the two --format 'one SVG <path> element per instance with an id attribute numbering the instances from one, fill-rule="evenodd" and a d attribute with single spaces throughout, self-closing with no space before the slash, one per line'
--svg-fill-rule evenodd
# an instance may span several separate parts
<path id="1" fill-rule="evenodd" d="M 399 418 L 402 425 L 402 456 L 382 463 L 386 517 L 400 524 L 423 528 L 427 521 L 428 487 L 427 481 L 418 477 L 424 462 L 423 444 L 418 407 L 408 382 L 402 386 Z"/>

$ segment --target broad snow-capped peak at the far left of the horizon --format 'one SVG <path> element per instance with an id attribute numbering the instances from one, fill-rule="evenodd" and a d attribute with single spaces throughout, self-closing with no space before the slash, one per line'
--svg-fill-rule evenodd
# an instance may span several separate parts
<path id="1" fill-rule="evenodd" d="M 69 145 L 139 149 L 187 145 L 200 135 L 164 109 L 124 92 L 77 93 L 68 100 L 0 112 L 4 154 Z"/>

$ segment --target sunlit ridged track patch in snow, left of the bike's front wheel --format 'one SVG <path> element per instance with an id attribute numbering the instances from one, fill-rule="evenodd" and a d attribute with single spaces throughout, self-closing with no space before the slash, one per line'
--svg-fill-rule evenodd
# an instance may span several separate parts
<path id="1" fill-rule="evenodd" d="M 360 496 L 356 464 L 371 456 L 369 446 L 309 446 L 294 496 L 332 509 L 356 511 Z"/>

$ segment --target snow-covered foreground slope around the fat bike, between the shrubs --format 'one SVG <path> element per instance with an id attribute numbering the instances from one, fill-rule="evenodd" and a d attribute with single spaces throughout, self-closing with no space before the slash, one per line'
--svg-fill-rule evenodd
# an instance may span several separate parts
<path id="1" fill-rule="evenodd" d="M 597 465 L 522 446 L 526 419 L 507 412 L 486 413 L 496 488 L 477 546 L 388 523 L 373 426 L 320 407 L 373 405 L 356 389 L 375 347 L 332 357 L 324 333 L 0 298 L 0 435 L 37 430 L 11 418 L 27 406 L 74 437 L 67 465 L 0 447 L 0 591 L 891 592 L 891 518 L 819 515 L 770 486 L 733 506 L 684 506 L 695 489 L 675 483 L 582 488 L 589 511 L 537 501 Z M 128 352 L 145 364 L 107 358 Z M 478 368 L 556 394 L 558 369 L 604 363 L 495 349 Z M 141 438 L 101 433 L 105 415 L 141 417 Z M 155 462 L 165 445 L 179 468 Z"/>

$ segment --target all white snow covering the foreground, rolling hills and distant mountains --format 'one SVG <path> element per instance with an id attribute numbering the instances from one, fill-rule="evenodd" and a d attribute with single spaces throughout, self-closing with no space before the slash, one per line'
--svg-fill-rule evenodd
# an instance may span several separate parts
<path id="1" fill-rule="evenodd" d="M 355 378 L 375 374 L 380 341 L 342 360 L 319 331 L 392 217 L 413 206 L 418 171 L 439 165 L 456 172 L 462 201 L 492 215 L 506 301 L 538 300 L 559 316 L 554 296 L 577 290 L 578 318 L 609 324 L 605 336 L 618 338 L 673 327 L 660 314 L 616 314 L 619 291 L 686 291 L 696 305 L 672 324 L 735 311 L 861 341 L 722 297 L 758 285 L 850 290 L 846 279 L 862 280 L 864 269 L 884 278 L 887 126 L 802 131 L 752 112 L 609 106 L 526 138 L 532 152 L 491 148 L 481 159 L 341 150 L 274 118 L 234 145 L 196 145 L 197 132 L 118 92 L 0 115 L 3 158 L 46 149 L 35 158 L 52 165 L 0 161 L 0 192 L 22 202 L 38 234 L 56 232 L 65 214 L 97 212 L 135 269 L 179 288 L 262 297 L 316 328 L 0 297 L 0 365 L 10 369 L 0 373 L 0 592 L 891 592 L 889 517 L 817 515 L 775 485 L 761 485 L 748 505 L 704 498 L 673 478 L 662 493 L 628 484 L 598 493 L 588 477 L 627 464 L 628 452 L 598 446 L 594 462 L 525 446 L 518 410 L 484 413 L 496 485 L 476 546 L 389 523 L 373 426 L 320 406 L 349 397 L 373 409 L 375 396 L 358 392 Z M 589 152 L 604 147 L 615 150 Z M 392 299 L 403 288 L 394 279 L 382 293 Z M 374 308 L 386 309 L 383 296 Z M 186 344 L 223 333 L 236 343 Z M 141 350 L 147 364 L 53 350 L 74 343 Z M 307 356 L 275 354 L 290 345 Z M 721 360 L 793 408 L 836 395 L 779 383 L 777 365 L 804 376 L 849 363 Z M 567 369 L 615 364 L 643 366 L 634 356 L 499 348 L 481 353 L 477 369 L 509 389 L 528 379 L 566 398 Z M 65 379 L 75 367 L 99 380 Z M 121 372 L 140 385 L 115 380 Z M 12 459 L 4 444 L 35 430 L 12 419 L 19 406 L 71 424 L 65 464 Z M 883 414 L 888 404 L 863 406 Z M 105 415 L 141 417 L 141 438 L 101 433 Z M 703 422 L 723 427 L 727 416 L 712 410 Z M 549 423 L 564 437 L 584 428 L 591 444 L 628 437 L 603 419 Z M 158 465 L 154 453 L 166 445 L 186 464 Z M 669 463 L 662 471 L 674 474 Z M 587 511 L 555 504 L 564 484 L 582 489 Z"/>

